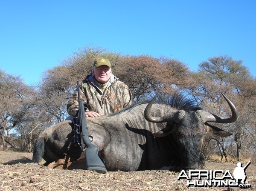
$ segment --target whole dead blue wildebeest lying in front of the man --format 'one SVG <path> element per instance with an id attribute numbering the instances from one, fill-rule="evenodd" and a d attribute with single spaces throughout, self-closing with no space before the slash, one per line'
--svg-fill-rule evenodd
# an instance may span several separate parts
<path id="1" fill-rule="evenodd" d="M 167 105 L 153 103 L 154 98 L 114 114 L 87 118 L 88 130 L 108 171 L 154 170 L 163 166 L 200 168 L 204 165 L 201 148 L 206 132 L 222 137 L 231 135 L 208 122 L 233 123 L 238 119 L 235 106 L 224 98 L 232 112 L 228 118 L 203 111 L 176 93 Z M 43 158 L 48 165 L 65 158 L 63 168 L 76 168 L 73 161 L 80 157 L 81 150 L 74 146 L 72 126 L 71 121 L 63 121 L 44 130 L 35 143 L 33 161 Z"/>

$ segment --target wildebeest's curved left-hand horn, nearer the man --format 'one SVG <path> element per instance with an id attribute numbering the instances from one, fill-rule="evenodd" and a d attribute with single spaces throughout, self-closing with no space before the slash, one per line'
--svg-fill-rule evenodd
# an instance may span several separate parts
<path id="1" fill-rule="evenodd" d="M 172 112 L 171 114 L 168 114 L 166 116 L 161 116 L 161 117 L 151 117 L 150 115 L 150 109 L 151 106 L 154 103 L 154 100 L 157 98 L 157 95 L 148 103 L 147 107 L 144 110 L 144 117 L 147 121 L 153 122 L 153 123 L 163 123 L 163 122 L 168 122 L 168 121 L 174 121 L 178 123 L 182 117 L 185 115 L 185 111 L 180 110 L 180 111 L 175 111 Z"/>

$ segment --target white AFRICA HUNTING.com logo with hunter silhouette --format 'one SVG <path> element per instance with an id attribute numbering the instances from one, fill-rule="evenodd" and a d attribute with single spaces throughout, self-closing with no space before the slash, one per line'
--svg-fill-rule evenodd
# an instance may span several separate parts
<path id="1" fill-rule="evenodd" d="M 233 176 L 228 170 L 182 170 L 178 176 L 178 180 L 186 179 L 187 186 L 195 187 L 230 186 L 248 188 L 251 185 L 245 183 L 247 178 L 245 170 L 249 165 L 250 162 L 242 167 L 241 162 L 238 162 L 237 167 L 233 171 Z"/>

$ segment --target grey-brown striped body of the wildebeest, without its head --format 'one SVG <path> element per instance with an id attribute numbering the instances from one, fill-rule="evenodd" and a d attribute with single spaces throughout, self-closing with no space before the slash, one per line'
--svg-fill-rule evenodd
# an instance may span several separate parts
<path id="1" fill-rule="evenodd" d="M 139 105 L 128 111 L 130 113 L 87 118 L 88 130 L 93 137 L 92 143 L 99 146 L 99 155 L 105 160 L 108 171 L 158 169 L 169 164 L 168 137 L 154 138 L 150 135 L 164 128 L 166 123 L 145 121 L 142 112 L 145 106 L 146 104 Z M 141 119 L 146 122 L 143 126 Z M 48 146 L 45 147 L 44 160 L 55 161 L 63 157 L 64 153 L 74 160 L 80 157 L 80 148 L 73 145 L 71 125 L 73 124 L 70 121 L 64 121 L 45 130 L 44 133 L 48 134 L 43 133 L 42 138 Z"/>

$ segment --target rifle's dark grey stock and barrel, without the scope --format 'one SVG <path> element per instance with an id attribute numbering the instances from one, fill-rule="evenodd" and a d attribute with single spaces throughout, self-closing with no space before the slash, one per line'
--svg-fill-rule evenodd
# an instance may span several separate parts
<path id="1" fill-rule="evenodd" d="M 79 125 L 80 125 L 80 136 L 81 145 L 84 142 L 86 149 L 85 154 L 85 165 L 88 170 L 96 171 L 98 173 L 107 173 L 106 167 L 100 159 L 98 152 L 99 147 L 93 145 L 89 139 L 88 127 L 85 119 L 84 103 L 80 100 L 80 88 L 79 82 L 77 82 L 78 100 L 79 100 Z M 83 148 L 82 148 L 83 149 Z"/>

